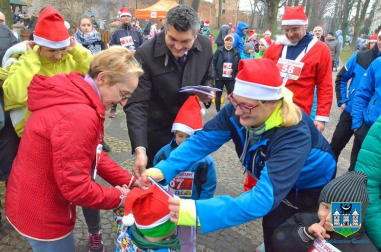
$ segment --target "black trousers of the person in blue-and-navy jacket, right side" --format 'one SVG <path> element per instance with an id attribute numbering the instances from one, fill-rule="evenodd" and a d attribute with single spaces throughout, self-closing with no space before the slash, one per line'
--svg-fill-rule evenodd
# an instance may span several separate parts
<path id="1" fill-rule="evenodd" d="M 353 136 L 352 128 L 352 116 L 346 110 L 344 110 L 339 118 L 339 122 L 336 125 L 335 132 L 331 140 L 331 148 L 335 155 L 336 162 L 339 160 L 339 155 L 345 145 L 349 142 Z"/>

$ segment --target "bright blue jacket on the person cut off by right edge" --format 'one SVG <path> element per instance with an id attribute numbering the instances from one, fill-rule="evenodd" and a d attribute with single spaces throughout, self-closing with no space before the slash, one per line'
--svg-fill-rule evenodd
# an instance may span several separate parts
<path id="1" fill-rule="evenodd" d="M 371 127 L 381 115 L 381 57 L 370 64 L 363 75 L 352 107 L 352 130 L 364 121 Z"/>

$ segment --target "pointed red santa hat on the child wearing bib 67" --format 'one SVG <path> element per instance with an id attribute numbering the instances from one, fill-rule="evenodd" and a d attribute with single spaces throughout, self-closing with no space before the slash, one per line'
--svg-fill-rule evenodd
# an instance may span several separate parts
<path id="1" fill-rule="evenodd" d="M 181 131 L 192 136 L 196 131 L 202 129 L 203 114 L 197 96 L 188 97 L 173 122 L 172 132 Z"/>

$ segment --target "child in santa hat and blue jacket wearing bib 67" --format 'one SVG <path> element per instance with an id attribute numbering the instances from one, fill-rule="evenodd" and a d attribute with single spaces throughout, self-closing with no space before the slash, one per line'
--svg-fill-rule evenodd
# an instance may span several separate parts
<path id="1" fill-rule="evenodd" d="M 172 125 L 175 137 L 161 148 L 153 160 L 155 166 L 186 139 L 196 134 L 203 127 L 202 114 L 197 96 L 189 97 L 181 107 Z M 179 173 L 168 186 L 169 192 L 185 199 L 209 199 L 213 197 L 217 185 L 214 160 L 211 155 L 200 159 L 182 173 Z M 194 227 L 177 227 L 177 236 L 182 251 L 196 252 L 196 230 Z"/>

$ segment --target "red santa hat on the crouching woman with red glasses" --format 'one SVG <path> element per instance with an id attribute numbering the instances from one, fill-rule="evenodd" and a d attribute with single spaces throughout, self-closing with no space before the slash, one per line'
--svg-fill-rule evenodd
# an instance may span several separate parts
<path id="1" fill-rule="evenodd" d="M 253 75 L 253 73 L 266 75 Z M 239 61 L 233 93 L 254 100 L 278 100 L 282 95 L 283 79 L 273 60 L 252 58 Z"/>

